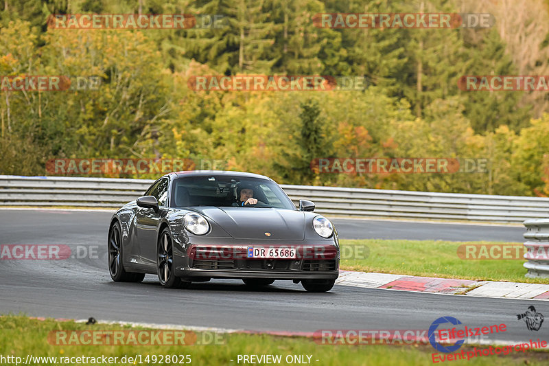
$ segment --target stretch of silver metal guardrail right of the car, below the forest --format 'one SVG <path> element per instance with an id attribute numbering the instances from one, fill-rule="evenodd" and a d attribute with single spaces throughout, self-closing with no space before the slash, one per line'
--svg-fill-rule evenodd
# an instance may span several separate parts
<path id="1" fill-rule="evenodd" d="M 520 222 L 549 218 L 549 198 L 282 185 L 290 198 L 314 201 L 325 214 Z"/>

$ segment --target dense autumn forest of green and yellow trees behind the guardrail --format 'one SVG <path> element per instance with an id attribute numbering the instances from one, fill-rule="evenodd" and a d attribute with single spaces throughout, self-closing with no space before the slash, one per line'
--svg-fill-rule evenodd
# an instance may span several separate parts
<path id="1" fill-rule="evenodd" d="M 189 30 L 55 30 L 50 14 L 222 14 Z M 484 29 L 329 29 L 323 12 L 481 12 Z M 542 0 L 1 0 L 0 75 L 100 76 L 0 91 L 0 174 L 55 158 L 221 159 L 279 183 L 549 195 L 549 93 L 461 91 L 549 75 Z M 364 76 L 364 91 L 193 91 L 197 75 Z M 488 160 L 487 173 L 315 174 L 327 157 Z M 135 176 L 152 178 L 153 176 Z"/>

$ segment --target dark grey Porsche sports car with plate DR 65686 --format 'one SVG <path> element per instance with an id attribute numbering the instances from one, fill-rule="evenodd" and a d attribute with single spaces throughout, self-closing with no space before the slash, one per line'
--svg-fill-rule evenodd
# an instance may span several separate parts
<path id="1" fill-rule="evenodd" d="M 339 242 L 331 222 L 313 210 L 306 200 L 296 209 L 259 174 L 166 174 L 110 220 L 110 277 L 141 282 L 151 273 L 167 288 L 211 278 L 255 287 L 288 279 L 325 292 L 339 274 Z"/>

